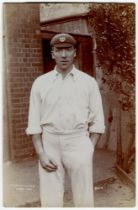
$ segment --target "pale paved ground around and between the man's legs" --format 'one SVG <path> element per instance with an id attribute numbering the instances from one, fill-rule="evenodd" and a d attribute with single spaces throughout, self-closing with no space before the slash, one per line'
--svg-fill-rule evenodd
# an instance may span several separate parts
<path id="1" fill-rule="evenodd" d="M 115 173 L 115 154 L 96 150 L 94 155 L 95 207 L 133 207 L 133 190 L 124 185 Z M 40 207 L 37 161 L 4 163 L 5 207 Z M 103 181 L 105 180 L 105 181 Z M 70 181 L 66 177 L 64 206 L 72 207 Z"/>

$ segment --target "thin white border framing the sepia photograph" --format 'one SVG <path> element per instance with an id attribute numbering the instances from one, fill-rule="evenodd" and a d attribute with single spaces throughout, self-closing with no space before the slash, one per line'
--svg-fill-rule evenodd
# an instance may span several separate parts
<path id="1" fill-rule="evenodd" d="M 3 15 L 3 3 L 29 3 L 29 2 L 34 2 L 34 3 L 51 3 L 51 2 L 71 2 L 71 3 L 75 3 L 75 2 L 78 2 L 78 3 L 89 3 L 89 2 L 91 2 L 91 3 L 104 3 L 104 2 L 107 2 L 107 3 L 135 3 L 136 4 L 136 32 L 137 32 L 137 28 L 138 28 L 138 15 L 137 15 L 137 1 L 135 1 L 135 0 L 120 0 L 120 1 L 118 1 L 118 0 L 114 0 L 114 1 L 112 1 L 112 0 L 76 0 L 76 1 L 71 1 L 71 0 L 64 0 L 64 1 L 62 1 L 62 0 L 57 0 L 57 1 L 54 1 L 54 0 L 49 0 L 49 1 L 36 1 L 36 0 L 18 0 L 18 1 L 12 1 L 12 0 L 1 0 L 0 1 L 0 14 L 1 14 L 1 18 L 0 18 L 0 46 L 1 46 L 1 50 L 0 50 L 0 58 L 1 58 L 1 62 L 0 62 L 0 73 L 1 73 L 1 75 L 0 75 L 0 85 L 1 85 L 1 87 L 2 87 L 2 68 L 3 68 L 3 65 L 2 65 L 2 45 L 3 45 L 3 43 L 2 43 L 2 31 L 3 31 L 3 29 L 2 29 L 2 25 L 3 25 L 3 17 L 2 17 L 2 15 Z M 136 35 L 137 35 L 137 33 L 136 33 Z M 137 36 L 136 36 L 136 44 L 137 44 Z M 136 45 L 137 46 L 137 45 Z M 137 69 L 137 47 L 136 47 L 136 69 Z M 137 81 L 138 81 L 138 76 L 137 76 L 137 74 L 136 74 L 136 90 L 137 90 Z M 136 96 L 137 96 L 137 94 L 136 94 Z M 2 113 L 2 109 L 3 109 L 3 107 L 2 107 L 2 88 L 0 88 L 0 99 L 1 99 L 1 103 L 0 103 L 0 186 L 1 186 L 1 189 L 0 189 L 0 209 L 5 209 L 5 207 L 3 207 L 3 196 L 2 196 L 2 194 L 3 194 L 3 189 L 2 189 L 2 183 L 3 183 L 3 170 L 2 170 L 2 168 L 3 168 L 3 135 L 2 135 L 2 130 L 3 130 L 3 128 L 2 128 L 2 118 L 3 118 L 3 113 Z M 136 97 L 136 105 L 137 105 L 137 102 L 138 102 L 138 99 L 137 99 L 137 97 Z M 137 106 L 136 106 L 136 108 L 137 108 Z M 137 112 L 136 112 L 136 124 L 137 124 Z M 136 129 L 137 130 L 137 129 Z M 136 132 L 136 140 L 138 139 L 137 138 L 138 136 L 137 136 L 137 132 Z M 137 149 L 137 144 L 136 144 L 136 149 Z M 137 153 L 136 153 L 136 157 L 137 157 Z M 136 163 L 137 163 L 137 158 L 136 158 Z M 138 170 L 137 170 L 137 167 L 136 167 L 136 174 L 138 174 Z M 137 178 L 136 178 L 137 179 Z M 136 182 L 137 183 L 137 182 Z M 138 189 L 137 189 L 137 184 L 136 184 L 136 206 L 133 208 L 133 209 L 136 209 L 136 207 L 137 207 L 137 195 L 138 195 Z M 9 207 L 10 208 L 10 207 Z M 30 209 L 31 208 L 31 209 Z M 7 207 L 6 207 L 6 209 L 7 209 Z M 15 210 L 21 210 L 21 209 L 24 209 L 24 208 L 12 208 L 13 210 L 15 209 Z M 25 208 L 25 209 L 28 209 L 28 210 L 36 210 L 36 208 L 32 208 L 32 207 L 29 207 L 29 208 Z M 37 209 L 42 209 L 42 208 L 37 208 Z M 50 209 L 51 210 L 51 208 L 47 208 L 47 209 Z M 52 208 L 52 209 L 57 209 L 57 208 Z M 60 208 L 58 208 L 58 209 L 60 209 Z M 73 209 L 76 209 L 76 208 L 66 208 L 66 209 L 69 209 L 69 210 L 73 210 Z M 77 208 L 77 209 L 82 209 L 82 208 Z M 101 209 L 101 208 L 98 208 L 98 209 Z M 107 209 L 107 207 L 106 208 L 102 208 L 102 209 Z M 108 208 L 108 209 L 110 209 L 110 208 Z M 120 207 L 119 208 L 111 208 L 111 209 L 120 209 Z M 128 210 L 130 210 L 130 208 L 125 208 L 125 209 L 128 209 Z"/>

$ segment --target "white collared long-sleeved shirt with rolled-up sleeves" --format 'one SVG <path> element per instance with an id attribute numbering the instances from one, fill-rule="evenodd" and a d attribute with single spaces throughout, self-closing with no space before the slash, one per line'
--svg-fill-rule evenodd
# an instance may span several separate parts
<path id="1" fill-rule="evenodd" d="M 88 126 L 89 124 L 89 126 Z M 33 83 L 27 134 L 103 133 L 104 115 L 96 80 L 75 66 L 63 79 L 56 68 Z"/>

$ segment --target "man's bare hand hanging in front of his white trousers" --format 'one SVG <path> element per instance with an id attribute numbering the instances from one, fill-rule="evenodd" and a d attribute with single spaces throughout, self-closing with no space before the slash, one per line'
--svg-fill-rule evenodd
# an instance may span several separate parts
<path id="1" fill-rule="evenodd" d="M 46 171 L 53 172 L 57 170 L 57 165 L 54 163 L 54 161 L 47 157 L 46 153 L 40 154 L 39 159 L 42 168 L 44 168 Z"/>

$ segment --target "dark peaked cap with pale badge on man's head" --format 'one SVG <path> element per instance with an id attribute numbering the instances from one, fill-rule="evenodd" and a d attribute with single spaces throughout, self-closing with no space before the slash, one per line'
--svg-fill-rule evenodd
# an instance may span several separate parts
<path id="1" fill-rule="evenodd" d="M 70 34 L 56 34 L 50 42 L 52 47 L 70 47 L 76 46 L 76 44 L 76 40 Z"/>

